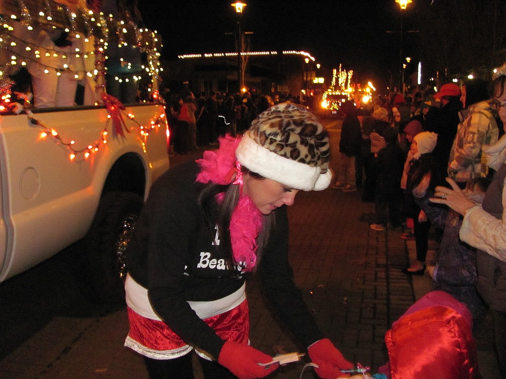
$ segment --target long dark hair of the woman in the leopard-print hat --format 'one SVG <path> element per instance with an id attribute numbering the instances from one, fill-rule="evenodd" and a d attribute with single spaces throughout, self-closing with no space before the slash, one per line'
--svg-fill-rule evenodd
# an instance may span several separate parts
<path id="1" fill-rule="evenodd" d="M 257 174 L 256 172 L 250 171 L 248 168 L 242 166 L 241 172 L 243 175 L 248 174 L 253 180 L 263 180 L 265 177 Z M 213 220 L 211 211 L 216 204 L 216 196 L 220 193 L 224 193 L 223 202 L 218 206 L 218 217 L 217 220 Z M 236 184 L 214 184 L 209 183 L 202 187 L 197 195 L 197 201 L 200 204 L 203 212 L 207 228 L 211 235 L 214 233 L 215 224 L 218 225 L 218 232 L 220 233 L 220 246 L 224 248 L 224 251 L 229 255 L 228 258 L 233 261 L 232 255 L 232 243 L 230 240 L 230 220 L 232 218 L 232 212 L 237 206 L 239 201 L 239 185 Z M 271 212 L 268 215 L 262 216 L 262 229 L 257 237 L 257 263 L 252 269 L 255 271 L 260 264 L 262 258 L 262 252 L 267 242 L 269 241 L 269 235 L 272 228 L 276 223 L 276 211 Z"/>

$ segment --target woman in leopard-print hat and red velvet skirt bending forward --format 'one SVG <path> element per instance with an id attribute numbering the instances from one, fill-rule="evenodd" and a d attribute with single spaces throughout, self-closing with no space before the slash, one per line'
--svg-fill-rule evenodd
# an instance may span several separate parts
<path id="1" fill-rule="evenodd" d="M 245 277 L 256 271 L 264 295 L 322 378 L 348 362 L 325 339 L 294 285 L 286 206 L 299 190 L 331 179 L 328 136 L 307 109 L 277 104 L 244 136 L 168 170 L 153 184 L 128 248 L 128 346 L 150 377 L 264 377 L 272 357 L 248 346 Z M 230 371 L 230 372 L 229 372 Z M 235 375 L 235 376 L 233 376 Z"/>

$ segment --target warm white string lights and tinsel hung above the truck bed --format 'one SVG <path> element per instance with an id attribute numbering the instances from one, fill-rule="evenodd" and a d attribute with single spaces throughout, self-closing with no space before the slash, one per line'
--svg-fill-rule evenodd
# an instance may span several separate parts
<path id="1" fill-rule="evenodd" d="M 161 49 L 161 39 L 156 31 L 138 28 L 132 20 L 115 20 L 112 15 L 105 16 L 103 13 L 95 14 L 88 9 L 79 8 L 70 10 L 67 6 L 55 3 L 52 0 L 44 0 L 43 3 L 30 3 L 29 9 L 24 0 L 5 0 L 3 3 L 4 14 L 0 15 L 0 57 L 7 63 L 0 65 L 0 106 L 5 110 L 5 100 L 8 99 L 7 74 L 16 71 L 17 66 L 27 66 L 30 63 L 36 63 L 44 67 L 46 74 L 56 74 L 58 76 L 65 72 L 72 73 L 75 79 L 81 79 L 88 76 L 93 77 L 96 83 L 96 90 L 105 89 L 106 75 L 105 61 L 107 60 L 108 40 L 112 33 L 118 41 L 118 47 L 124 48 L 133 45 L 134 49 L 140 49 L 142 53 L 147 53 L 147 65 L 142 65 L 142 70 L 151 76 L 153 86 L 157 88 L 159 73 L 162 71 L 159 62 L 159 49 Z M 15 27 L 26 28 L 28 33 L 21 35 L 19 31 L 15 32 Z M 40 46 L 36 37 L 30 40 L 34 34 L 34 27 L 41 31 L 63 30 L 69 33 L 69 36 L 78 41 L 77 45 L 83 46 L 92 41 L 94 51 L 75 47 L 73 51 L 61 52 L 51 49 L 49 46 Z M 26 38 L 25 38 L 26 36 Z M 82 51 L 81 51 L 82 50 Z M 58 62 L 55 63 L 52 58 Z M 81 59 L 83 61 L 94 59 L 94 63 L 80 66 L 93 66 L 93 69 L 83 69 L 74 67 L 70 61 Z M 133 75 L 133 80 L 140 80 L 139 74 Z M 122 81 L 121 77 L 114 77 L 117 81 Z M 128 79 L 127 79 L 128 80 Z M 0 108 L 2 110 L 2 108 Z"/>

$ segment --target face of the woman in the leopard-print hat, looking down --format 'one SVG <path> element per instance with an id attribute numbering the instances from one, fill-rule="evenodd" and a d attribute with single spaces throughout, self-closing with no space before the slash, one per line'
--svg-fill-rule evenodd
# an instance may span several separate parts
<path id="1" fill-rule="evenodd" d="M 283 205 L 292 205 L 299 189 L 287 187 L 271 179 L 256 179 L 244 175 L 243 195 L 249 196 L 263 215 Z"/>

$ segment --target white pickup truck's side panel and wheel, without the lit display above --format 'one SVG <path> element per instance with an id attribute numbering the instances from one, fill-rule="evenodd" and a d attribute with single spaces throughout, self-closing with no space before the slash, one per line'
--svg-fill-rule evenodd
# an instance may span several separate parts
<path id="1" fill-rule="evenodd" d="M 124 114 L 117 133 L 103 106 L 0 113 L 0 281 L 79 242 L 97 300 L 122 294 L 123 249 L 169 163 L 164 106 Z"/>

